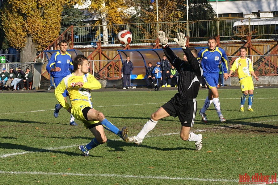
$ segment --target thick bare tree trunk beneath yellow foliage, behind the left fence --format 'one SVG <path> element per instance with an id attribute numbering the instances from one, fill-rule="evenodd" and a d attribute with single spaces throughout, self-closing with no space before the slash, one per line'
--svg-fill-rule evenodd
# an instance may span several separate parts
<path id="1" fill-rule="evenodd" d="M 36 54 L 36 44 L 32 42 L 31 37 L 28 37 L 25 47 L 20 51 L 20 62 L 33 62 Z"/>

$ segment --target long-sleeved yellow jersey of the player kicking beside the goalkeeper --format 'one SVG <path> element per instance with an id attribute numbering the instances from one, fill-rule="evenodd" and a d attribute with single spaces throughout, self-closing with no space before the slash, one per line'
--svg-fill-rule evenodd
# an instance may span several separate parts
<path id="1" fill-rule="evenodd" d="M 79 87 L 76 85 L 78 82 L 83 82 L 83 86 Z M 82 76 L 74 76 L 74 73 L 66 76 L 63 80 L 61 80 L 60 84 L 55 89 L 55 97 L 58 102 L 64 107 L 66 110 L 70 108 L 70 105 L 65 102 L 65 99 L 62 93 L 65 89 L 69 92 L 70 102 L 73 106 L 88 106 L 93 108 L 91 102 L 91 89 L 100 89 L 101 84 L 93 75 L 87 73 Z"/>

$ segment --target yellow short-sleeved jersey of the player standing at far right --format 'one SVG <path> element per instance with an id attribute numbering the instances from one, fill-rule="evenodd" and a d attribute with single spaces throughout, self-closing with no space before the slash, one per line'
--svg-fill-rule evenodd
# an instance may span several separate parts
<path id="1" fill-rule="evenodd" d="M 249 58 L 241 59 L 238 57 L 235 61 L 234 64 L 232 65 L 231 69 L 233 71 L 238 72 L 238 79 L 245 78 L 247 76 L 251 76 L 251 71 L 254 71 L 252 68 L 252 60 Z"/>

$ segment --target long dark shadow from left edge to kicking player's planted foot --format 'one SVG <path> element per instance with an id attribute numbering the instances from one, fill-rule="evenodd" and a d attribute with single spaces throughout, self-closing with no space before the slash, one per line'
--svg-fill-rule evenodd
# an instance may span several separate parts
<path id="1" fill-rule="evenodd" d="M 17 144 L 12 144 L 12 143 L 0 143 L 0 148 L 3 149 L 15 149 L 15 150 L 24 150 L 27 152 L 37 152 L 37 153 L 41 153 L 41 152 L 48 152 L 50 154 L 65 154 L 68 156 L 83 156 L 81 151 L 77 149 L 76 147 L 76 152 L 62 152 L 59 150 L 49 150 L 49 149 L 41 149 L 41 148 L 35 148 L 35 147 L 31 147 L 31 146 L 24 146 L 24 145 L 17 145 Z M 16 152 L 16 153 L 20 153 L 20 152 Z M 102 157 L 102 156 L 93 156 L 93 157 Z"/>

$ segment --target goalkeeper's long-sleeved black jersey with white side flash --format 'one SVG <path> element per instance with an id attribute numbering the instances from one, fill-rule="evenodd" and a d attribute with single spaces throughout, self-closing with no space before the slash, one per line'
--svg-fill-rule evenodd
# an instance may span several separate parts
<path id="1" fill-rule="evenodd" d="M 179 96 L 186 99 L 196 98 L 200 88 L 201 76 L 203 75 L 202 65 L 188 48 L 183 49 L 188 61 L 181 60 L 169 46 L 163 48 L 163 51 L 170 63 L 179 72 Z"/>

